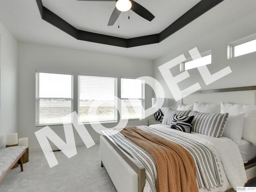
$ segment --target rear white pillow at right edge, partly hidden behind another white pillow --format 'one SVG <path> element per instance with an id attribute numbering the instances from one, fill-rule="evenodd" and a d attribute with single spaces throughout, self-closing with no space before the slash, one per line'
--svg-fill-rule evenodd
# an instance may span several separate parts
<path id="1" fill-rule="evenodd" d="M 221 102 L 221 113 L 245 112 L 242 138 L 256 145 L 256 105 L 241 105 Z"/>

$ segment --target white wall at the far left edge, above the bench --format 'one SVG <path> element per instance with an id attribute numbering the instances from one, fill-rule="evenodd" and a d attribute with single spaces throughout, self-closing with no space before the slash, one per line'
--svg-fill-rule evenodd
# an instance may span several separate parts
<path id="1" fill-rule="evenodd" d="M 18 43 L 0 23 L 0 148 L 17 132 Z"/>

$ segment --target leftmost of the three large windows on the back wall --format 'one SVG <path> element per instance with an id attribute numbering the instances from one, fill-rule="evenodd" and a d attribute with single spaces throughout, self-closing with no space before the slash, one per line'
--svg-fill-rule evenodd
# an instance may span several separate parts
<path id="1" fill-rule="evenodd" d="M 62 124 L 72 112 L 72 81 L 72 75 L 36 73 L 36 125 Z"/>

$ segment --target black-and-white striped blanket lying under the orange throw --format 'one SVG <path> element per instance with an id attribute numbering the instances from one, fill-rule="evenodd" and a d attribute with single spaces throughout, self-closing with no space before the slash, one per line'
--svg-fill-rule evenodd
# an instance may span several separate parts
<path id="1" fill-rule="evenodd" d="M 216 157 L 209 146 L 197 142 L 192 138 L 187 138 L 184 135 L 179 135 L 164 129 L 155 129 L 147 126 L 137 126 L 137 128 L 145 132 L 157 134 L 166 140 L 171 140 L 184 147 L 191 154 L 196 165 L 196 181 L 198 188 L 211 190 L 222 186 L 224 181 L 221 176 L 223 173 L 221 173 L 219 168 L 220 159 Z M 152 192 L 156 192 L 157 166 L 152 155 L 116 130 L 106 130 L 103 131 L 103 134 L 111 138 L 111 140 L 114 140 L 120 148 L 133 158 L 142 162 L 146 169 L 146 180 Z"/>

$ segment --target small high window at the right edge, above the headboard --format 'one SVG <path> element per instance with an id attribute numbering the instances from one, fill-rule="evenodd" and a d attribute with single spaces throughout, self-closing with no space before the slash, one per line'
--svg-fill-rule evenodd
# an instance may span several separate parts
<path id="1" fill-rule="evenodd" d="M 251 36 L 228 45 L 228 59 L 256 52 L 256 37 Z"/>

